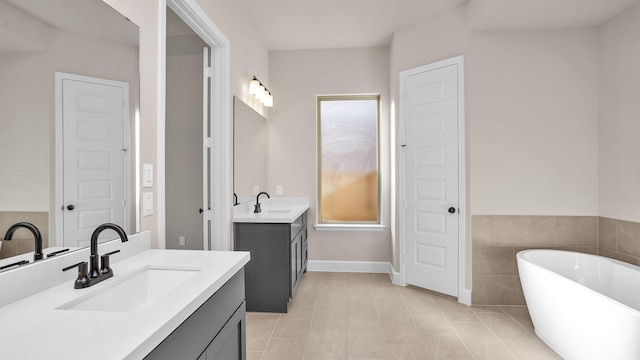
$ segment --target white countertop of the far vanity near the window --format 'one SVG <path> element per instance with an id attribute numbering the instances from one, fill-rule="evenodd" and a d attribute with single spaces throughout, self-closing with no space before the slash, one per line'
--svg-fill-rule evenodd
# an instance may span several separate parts
<path id="1" fill-rule="evenodd" d="M 260 198 L 262 212 L 254 213 L 255 201 L 233 208 L 234 223 L 292 223 L 309 209 L 306 197 Z"/>

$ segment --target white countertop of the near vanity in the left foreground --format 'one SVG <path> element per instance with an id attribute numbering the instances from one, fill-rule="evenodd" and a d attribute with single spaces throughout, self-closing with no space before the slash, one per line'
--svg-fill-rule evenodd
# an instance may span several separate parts
<path id="1" fill-rule="evenodd" d="M 147 250 L 112 260 L 113 277 L 92 287 L 76 290 L 70 281 L 0 307 L 0 358 L 141 359 L 248 261 L 248 252 L 193 250 Z M 104 290 L 145 266 L 197 267 L 200 271 L 142 310 L 56 309 Z"/>

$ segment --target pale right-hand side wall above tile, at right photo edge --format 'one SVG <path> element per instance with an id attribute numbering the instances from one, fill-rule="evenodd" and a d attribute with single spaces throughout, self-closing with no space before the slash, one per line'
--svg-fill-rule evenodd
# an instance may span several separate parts
<path id="1" fill-rule="evenodd" d="M 640 5 L 599 40 L 600 216 L 640 222 Z"/>

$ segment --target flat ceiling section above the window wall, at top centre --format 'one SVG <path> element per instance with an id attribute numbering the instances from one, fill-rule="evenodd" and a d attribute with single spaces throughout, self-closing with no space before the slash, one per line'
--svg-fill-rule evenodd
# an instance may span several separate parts
<path id="1" fill-rule="evenodd" d="M 240 0 L 269 50 L 387 45 L 396 30 L 468 1 Z"/>

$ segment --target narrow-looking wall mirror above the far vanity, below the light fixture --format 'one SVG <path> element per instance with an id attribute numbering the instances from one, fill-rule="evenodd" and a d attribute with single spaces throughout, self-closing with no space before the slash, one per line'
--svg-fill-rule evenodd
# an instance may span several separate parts
<path id="1" fill-rule="evenodd" d="M 238 203 L 267 191 L 269 124 L 237 97 L 233 98 L 233 192 Z"/>

